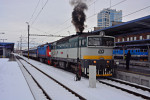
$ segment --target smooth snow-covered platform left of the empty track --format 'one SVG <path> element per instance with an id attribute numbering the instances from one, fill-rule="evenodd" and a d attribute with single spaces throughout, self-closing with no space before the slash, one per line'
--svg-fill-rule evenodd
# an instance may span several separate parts
<path id="1" fill-rule="evenodd" d="M 0 100 L 34 100 L 15 61 L 0 58 Z"/>

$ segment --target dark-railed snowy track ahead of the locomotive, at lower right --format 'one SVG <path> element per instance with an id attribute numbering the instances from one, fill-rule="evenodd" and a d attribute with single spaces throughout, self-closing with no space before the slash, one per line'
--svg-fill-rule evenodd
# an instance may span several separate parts
<path id="1" fill-rule="evenodd" d="M 121 89 L 122 91 L 128 92 L 130 94 L 133 94 L 135 96 L 140 96 L 146 100 L 150 100 L 150 89 L 131 84 L 129 82 L 113 79 L 113 78 L 107 78 L 104 80 L 98 80 L 102 84 L 109 85 L 111 87 L 115 87 L 117 89 Z"/>

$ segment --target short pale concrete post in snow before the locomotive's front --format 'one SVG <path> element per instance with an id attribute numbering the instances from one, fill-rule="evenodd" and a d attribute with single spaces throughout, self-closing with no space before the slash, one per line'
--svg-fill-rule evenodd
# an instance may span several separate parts
<path id="1" fill-rule="evenodd" d="M 89 65 L 89 87 L 96 88 L 96 66 Z"/>

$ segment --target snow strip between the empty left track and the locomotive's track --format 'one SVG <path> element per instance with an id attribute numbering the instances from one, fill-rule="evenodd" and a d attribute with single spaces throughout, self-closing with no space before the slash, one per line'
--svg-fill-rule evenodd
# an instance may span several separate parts
<path id="1" fill-rule="evenodd" d="M 74 81 L 75 75 L 70 72 L 31 59 L 25 59 L 88 100 L 143 100 L 140 97 L 99 82 L 96 83 L 96 88 L 90 88 L 89 80 L 86 78 L 82 77 L 81 81 Z"/>

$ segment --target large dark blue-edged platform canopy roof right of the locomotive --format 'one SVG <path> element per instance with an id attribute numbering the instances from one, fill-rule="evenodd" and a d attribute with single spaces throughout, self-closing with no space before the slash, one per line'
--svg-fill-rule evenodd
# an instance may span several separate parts
<path id="1" fill-rule="evenodd" d="M 150 15 L 93 32 L 104 31 L 106 35 L 115 36 L 143 30 L 150 30 Z"/>

